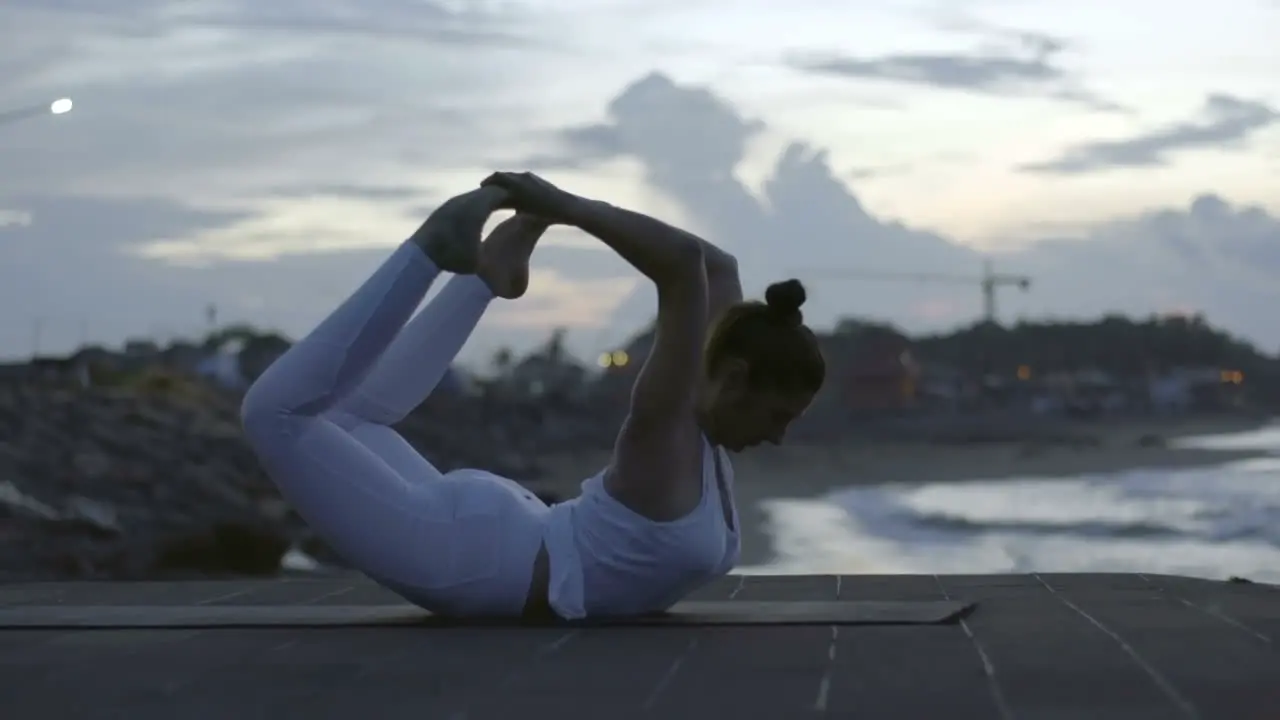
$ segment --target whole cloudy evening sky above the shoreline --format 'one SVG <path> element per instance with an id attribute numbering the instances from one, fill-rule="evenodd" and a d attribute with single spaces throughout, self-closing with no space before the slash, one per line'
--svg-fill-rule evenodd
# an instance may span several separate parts
<path id="1" fill-rule="evenodd" d="M 989 260 L 1030 278 L 1004 322 L 1194 311 L 1274 352 L 1275 37 L 1275 0 L 5 0 L 0 356 L 210 306 L 297 337 L 494 169 L 686 227 L 748 295 L 799 277 L 819 327 L 972 323 Z M 462 359 L 654 307 L 557 228 Z"/>

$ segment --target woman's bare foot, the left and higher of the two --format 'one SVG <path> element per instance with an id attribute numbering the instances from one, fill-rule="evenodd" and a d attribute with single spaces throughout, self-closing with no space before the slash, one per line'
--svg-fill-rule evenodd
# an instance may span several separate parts
<path id="1" fill-rule="evenodd" d="M 413 233 L 413 242 L 435 266 L 470 275 L 480 265 L 480 236 L 489 215 L 507 201 L 507 191 L 481 187 L 444 201 Z"/>

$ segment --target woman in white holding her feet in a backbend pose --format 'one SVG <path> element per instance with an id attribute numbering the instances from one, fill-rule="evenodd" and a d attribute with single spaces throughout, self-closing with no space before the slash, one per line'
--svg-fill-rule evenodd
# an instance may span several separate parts
<path id="1" fill-rule="evenodd" d="M 517 213 L 481 243 L 500 208 Z M 390 429 L 430 393 L 488 304 L 525 292 L 549 224 L 595 236 L 658 290 L 657 337 L 613 461 L 550 507 L 490 473 L 442 474 Z M 402 329 L 440 272 L 456 277 Z M 246 434 L 317 534 L 431 611 L 663 611 L 737 561 L 722 448 L 780 442 L 822 386 L 804 288 L 787 281 L 767 299 L 742 302 L 732 258 L 689 233 L 529 173 L 497 173 L 433 213 L 259 378 L 244 397 Z"/>

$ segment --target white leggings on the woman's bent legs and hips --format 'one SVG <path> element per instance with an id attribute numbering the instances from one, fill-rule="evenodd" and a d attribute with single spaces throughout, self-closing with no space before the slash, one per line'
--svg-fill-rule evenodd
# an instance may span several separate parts
<path id="1" fill-rule="evenodd" d="M 493 295 L 404 242 L 244 396 L 250 445 L 284 498 L 356 569 L 451 615 L 518 615 L 548 507 L 506 478 L 440 474 L 389 425 L 448 370 Z M 402 329 L 403 328 L 403 329 Z"/>

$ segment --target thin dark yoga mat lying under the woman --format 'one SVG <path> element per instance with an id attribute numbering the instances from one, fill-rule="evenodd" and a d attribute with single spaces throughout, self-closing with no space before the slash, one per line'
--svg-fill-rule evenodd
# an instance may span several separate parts
<path id="1" fill-rule="evenodd" d="M 589 620 L 575 625 L 936 625 L 972 609 L 954 601 L 913 602 L 681 602 L 664 615 Z M 0 609 L 4 629 L 67 628 L 343 628 L 521 625 L 517 620 L 457 619 L 412 605 L 253 606 L 23 606 Z M 566 623 L 567 624 L 567 623 Z"/>

